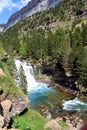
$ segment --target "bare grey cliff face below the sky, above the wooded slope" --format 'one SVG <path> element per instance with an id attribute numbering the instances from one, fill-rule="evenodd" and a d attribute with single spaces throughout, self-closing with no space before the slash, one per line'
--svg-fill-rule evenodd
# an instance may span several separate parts
<path id="1" fill-rule="evenodd" d="M 4 27 L 4 31 L 6 31 L 9 27 L 16 24 L 18 21 L 29 17 L 37 12 L 41 12 L 49 9 L 50 7 L 55 6 L 59 2 L 63 0 L 31 0 L 27 4 L 27 6 L 23 7 L 18 12 L 14 13 L 8 20 L 7 24 Z"/>

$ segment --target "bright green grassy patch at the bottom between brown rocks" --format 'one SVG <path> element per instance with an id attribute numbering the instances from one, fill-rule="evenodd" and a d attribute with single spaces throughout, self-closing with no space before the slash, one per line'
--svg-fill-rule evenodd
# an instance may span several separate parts
<path id="1" fill-rule="evenodd" d="M 13 118 L 13 128 L 20 130 L 44 130 L 46 120 L 36 111 L 28 110 L 21 116 Z"/>

